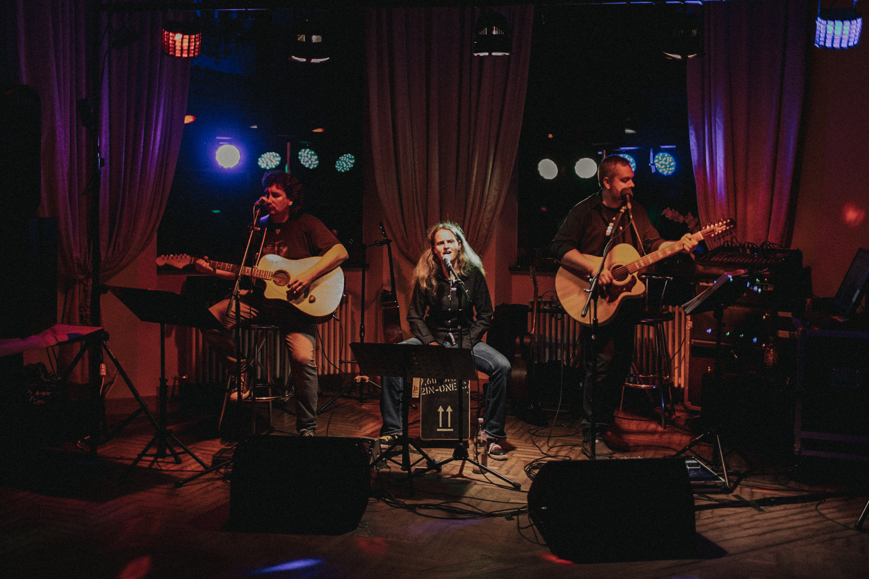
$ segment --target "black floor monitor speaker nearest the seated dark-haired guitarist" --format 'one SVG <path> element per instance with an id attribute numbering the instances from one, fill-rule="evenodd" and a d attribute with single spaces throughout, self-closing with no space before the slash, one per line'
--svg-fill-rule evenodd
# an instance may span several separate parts
<path id="1" fill-rule="evenodd" d="M 370 468 L 361 438 L 254 436 L 233 454 L 226 529 L 342 535 L 368 506 Z"/>

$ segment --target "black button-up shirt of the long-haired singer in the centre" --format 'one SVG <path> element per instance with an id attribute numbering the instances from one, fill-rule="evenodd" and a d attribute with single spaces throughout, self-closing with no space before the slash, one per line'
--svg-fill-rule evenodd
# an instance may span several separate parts
<path id="1" fill-rule="evenodd" d="M 434 341 L 442 344 L 445 339 L 449 340 L 450 333 L 454 339 L 459 339 L 461 322 L 462 347 L 472 347 L 488 332 L 494 314 L 486 276 L 476 267 L 461 276 L 468 295 L 474 300 L 473 307 L 468 305 L 461 287 L 451 285 L 443 273 L 439 271 L 434 280 L 434 288 L 422 290 L 419 284 L 414 286 L 408 306 L 410 332 L 423 344 Z"/>

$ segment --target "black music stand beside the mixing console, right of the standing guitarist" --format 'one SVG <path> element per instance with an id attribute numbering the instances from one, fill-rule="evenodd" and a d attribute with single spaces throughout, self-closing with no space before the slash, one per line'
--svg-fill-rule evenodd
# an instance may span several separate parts
<path id="1" fill-rule="evenodd" d="M 694 299 L 682 304 L 682 310 L 685 312 L 685 315 L 710 311 L 713 312 L 713 317 L 715 318 L 714 376 L 716 378 L 720 378 L 724 373 L 724 370 L 721 367 L 721 360 L 724 358 L 724 354 L 721 351 L 721 337 L 724 328 L 724 324 L 722 323 L 722 320 L 724 319 L 724 310 L 726 307 L 733 306 L 736 300 L 740 299 L 743 293 L 746 293 L 747 289 L 746 270 L 738 269 L 733 272 L 722 274 L 718 280 L 715 280 L 712 286 L 707 287 L 706 290 L 698 294 Z M 715 469 L 713 464 L 707 464 L 705 458 L 700 457 L 696 451 L 693 451 L 693 447 L 704 442 L 706 438 L 713 439 L 710 443 L 713 445 L 711 461 L 713 464 L 715 462 L 715 452 L 718 451 L 718 457 L 720 457 L 721 460 L 720 473 Z M 704 480 L 699 485 L 692 485 L 693 488 L 697 489 L 700 485 L 702 485 L 703 488 L 706 488 L 706 485 L 711 485 L 713 489 L 719 489 L 726 493 L 730 492 L 730 479 L 727 477 L 727 464 L 724 460 L 724 449 L 721 447 L 721 438 L 718 435 L 718 432 L 715 431 L 715 424 L 700 436 L 692 438 L 685 447 L 680 449 L 680 451 L 676 451 L 676 453 L 673 454 L 673 457 L 680 457 L 687 452 L 690 452 L 691 457 L 693 457 L 693 459 L 700 464 L 700 467 L 703 470 L 706 470 L 708 475 L 712 477 L 711 481 Z"/>

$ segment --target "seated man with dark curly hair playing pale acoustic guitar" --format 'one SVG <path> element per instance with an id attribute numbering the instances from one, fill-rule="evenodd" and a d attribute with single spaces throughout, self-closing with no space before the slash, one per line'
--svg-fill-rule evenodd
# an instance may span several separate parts
<path id="1" fill-rule="evenodd" d="M 313 215 L 304 213 L 302 185 L 294 177 L 283 171 L 269 171 L 262 177 L 265 194 L 257 203 L 266 208 L 269 215 L 259 220 L 260 234 L 255 234 L 250 252 L 259 251 L 262 255 L 275 254 L 289 260 L 319 256 L 313 266 L 295 275 L 289 281 L 287 295 L 297 299 L 308 291 L 311 283 L 325 273 L 331 272 L 344 260 L 347 250 L 327 228 Z M 265 240 L 262 240 L 262 232 Z M 256 256 L 255 263 L 262 256 Z M 243 264 L 242 264 L 243 265 Z M 209 266 L 208 258 L 196 260 L 196 270 L 211 273 L 217 277 L 232 280 L 234 273 L 215 270 Z M 316 326 L 310 319 L 295 313 L 292 308 L 269 307 L 260 293 L 242 291 L 241 317 L 244 322 L 256 319 L 257 323 L 281 326 L 284 343 L 289 350 L 290 374 L 295 383 L 295 426 L 302 436 L 314 436 L 317 427 L 317 368 L 314 362 Z M 220 352 L 231 365 L 235 365 L 235 341 L 231 330 L 235 326 L 235 308 L 227 313 L 229 298 L 211 307 L 220 319 L 225 332 L 204 332 L 203 337 Z M 252 369 L 242 367 L 242 376 L 249 375 Z M 242 394 L 245 396 L 245 394 Z"/>

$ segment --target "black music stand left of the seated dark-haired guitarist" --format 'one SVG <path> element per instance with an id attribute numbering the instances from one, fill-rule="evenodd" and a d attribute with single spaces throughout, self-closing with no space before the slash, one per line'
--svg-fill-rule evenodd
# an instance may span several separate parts
<path id="1" fill-rule="evenodd" d="M 143 322 L 160 324 L 160 388 L 158 391 L 159 424 L 156 424 L 156 434 L 150 442 L 130 464 L 130 468 L 136 466 L 144 457 L 154 457 L 154 462 L 171 455 L 176 464 L 181 464 L 182 453 L 193 457 L 197 463 L 202 464 L 203 469 L 208 465 L 202 462 L 193 451 L 184 446 L 178 438 L 166 428 L 166 401 L 169 398 L 169 386 L 166 380 L 166 325 L 185 326 L 200 330 L 223 330 L 223 326 L 209 310 L 198 301 L 189 299 L 187 296 L 161 290 L 140 289 L 137 287 L 108 286 L 109 291 L 121 300 L 136 318 Z M 141 408 L 140 408 L 141 410 Z M 133 417 L 130 417 L 133 418 Z M 129 420 L 129 418 L 128 418 Z M 173 448 L 171 441 L 181 447 L 181 451 Z M 148 451 L 156 444 L 153 453 Z"/>

